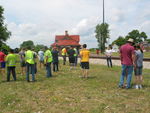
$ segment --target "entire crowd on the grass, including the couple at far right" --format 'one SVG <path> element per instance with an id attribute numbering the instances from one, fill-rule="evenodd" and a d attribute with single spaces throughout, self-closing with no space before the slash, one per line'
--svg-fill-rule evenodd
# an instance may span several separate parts
<path id="1" fill-rule="evenodd" d="M 82 68 L 82 77 L 88 78 L 89 72 L 89 56 L 90 51 L 87 45 L 84 44 L 80 50 L 75 47 L 62 48 L 61 51 L 57 47 L 53 47 L 52 50 L 45 47 L 41 49 L 38 53 L 34 51 L 31 47 L 22 48 L 18 53 L 20 56 L 20 66 L 21 74 L 26 75 L 26 81 L 30 82 L 30 74 L 32 75 L 32 80 L 35 81 L 35 74 L 37 73 L 37 64 L 39 68 L 46 69 L 46 77 L 52 77 L 53 72 L 59 71 L 59 53 L 63 58 L 63 65 L 66 65 L 66 57 L 69 59 L 70 70 L 76 68 L 78 64 L 78 56 L 80 56 L 80 66 Z M 107 57 L 108 67 L 112 67 L 112 48 L 108 48 L 105 52 Z M 36 58 L 39 59 L 37 62 Z M 136 83 L 135 88 L 142 88 L 142 70 L 143 70 L 143 51 L 140 45 L 135 45 L 133 39 L 129 39 L 126 44 L 120 47 L 120 59 L 122 65 L 122 72 L 120 76 L 119 87 L 120 88 L 131 88 L 132 73 L 134 71 Z M 17 56 L 14 50 L 11 49 L 8 55 L 5 55 L 0 51 L 0 74 L 4 77 L 5 67 L 7 67 L 7 81 L 10 81 L 10 74 L 12 73 L 13 79 L 16 81 L 16 62 Z M 6 65 L 6 66 L 5 66 Z M 126 83 L 124 79 L 126 78 Z"/>

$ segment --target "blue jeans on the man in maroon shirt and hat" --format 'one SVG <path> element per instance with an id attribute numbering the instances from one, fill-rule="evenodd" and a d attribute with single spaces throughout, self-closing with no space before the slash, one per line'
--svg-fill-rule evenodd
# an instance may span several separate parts
<path id="1" fill-rule="evenodd" d="M 133 65 L 131 66 L 127 66 L 127 65 L 122 65 L 122 74 L 121 74 L 121 77 L 120 77 L 120 83 L 119 83 L 119 86 L 122 87 L 123 84 L 124 84 L 124 77 L 126 76 L 127 74 L 127 86 L 126 88 L 130 88 L 130 83 L 131 83 L 131 80 L 132 80 L 132 72 L 133 72 Z"/>

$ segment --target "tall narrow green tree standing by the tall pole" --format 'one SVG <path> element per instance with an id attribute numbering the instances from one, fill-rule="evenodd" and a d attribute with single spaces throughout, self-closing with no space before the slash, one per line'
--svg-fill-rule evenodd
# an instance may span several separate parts
<path id="1" fill-rule="evenodd" d="M 109 39 L 109 25 L 107 23 L 98 24 L 96 26 L 96 38 L 98 42 L 98 47 L 103 53 L 105 51 L 105 44 L 107 43 L 107 39 Z"/>

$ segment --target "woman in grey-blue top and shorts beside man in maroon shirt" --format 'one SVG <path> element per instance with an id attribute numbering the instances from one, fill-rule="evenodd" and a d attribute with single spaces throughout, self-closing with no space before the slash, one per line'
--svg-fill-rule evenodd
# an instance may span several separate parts
<path id="1" fill-rule="evenodd" d="M 135 56 L 136 56 L 136 60 L 135 60 L 136 67 L 134 69 L 135 78 L 136 78 L 135 89 L 139 89 L 139 88 L 141 89 L 142 81 L 143 81 L 143 76 L 142 76 L 143 50 L 141 49 L 141 47 L 139 45 L 136 46 Z"/>

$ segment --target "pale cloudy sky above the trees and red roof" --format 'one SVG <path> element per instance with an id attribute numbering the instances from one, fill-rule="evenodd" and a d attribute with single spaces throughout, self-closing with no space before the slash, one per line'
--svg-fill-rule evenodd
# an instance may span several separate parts
<path id="1" fill-rule="evenodd" d="M 0 0 L 5 23 L 12 35 L 7 44 L 19 47 L 23 41 L 50 46 L 55 35 L 80 35 L 80 43 L 96 48 L 95 27 L 102 23 L 103 0 Z M 133 29 L 150 38 L 150 0 L 105 0 L 105 22 L 109 43 Z"/>

